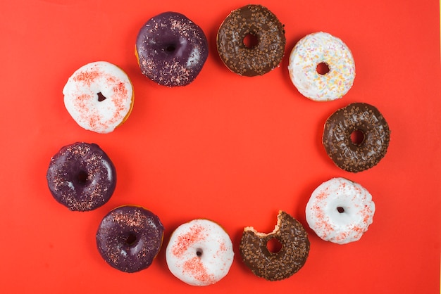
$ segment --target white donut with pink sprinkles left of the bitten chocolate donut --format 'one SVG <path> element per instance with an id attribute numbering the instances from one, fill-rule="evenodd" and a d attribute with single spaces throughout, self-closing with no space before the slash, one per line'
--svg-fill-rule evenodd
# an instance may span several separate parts
<path id="1" fill-rule="evenodd" d="M 178 226 L 166 249 L 168 269 L 192 286 L 209 286 L 223 279 L 233 257 L 230 236 L 208 219 L 194 219 Z"/>

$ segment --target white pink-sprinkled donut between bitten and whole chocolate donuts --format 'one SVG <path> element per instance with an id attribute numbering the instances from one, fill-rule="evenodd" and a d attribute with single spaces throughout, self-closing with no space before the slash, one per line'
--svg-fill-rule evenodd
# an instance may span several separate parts
<path id="1" fill-rule="evenodd" d="M 306 205 L 306 222 L 325 241 L 358 241 L 372 224 L 375 204 L 371 194 L 353 181 L 334 178 L 313 191 Z"/>

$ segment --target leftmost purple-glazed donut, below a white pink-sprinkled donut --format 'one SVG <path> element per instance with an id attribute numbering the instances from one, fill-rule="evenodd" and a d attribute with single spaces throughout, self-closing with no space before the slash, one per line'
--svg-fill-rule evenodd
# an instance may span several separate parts
<path id="1" fill-rule="evenodd" d="M 46 173 L 55 200 L 73 211 L 104 205 L 116 186 L 116 170 L 108 155 L 95 143 L 64 146 L 49 163 Z"/>

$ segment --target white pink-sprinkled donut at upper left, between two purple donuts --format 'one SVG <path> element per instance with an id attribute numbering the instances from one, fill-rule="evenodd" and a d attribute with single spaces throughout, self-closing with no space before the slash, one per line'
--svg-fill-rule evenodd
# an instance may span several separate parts
<path id="1" fill-rule="evenodd" d="M 73 120 L 101 134 L 113 132 L 128 119 L 135 98 L 128 75 L 106 61 L 88 63 L 76 70 L 63 94 Z"/>

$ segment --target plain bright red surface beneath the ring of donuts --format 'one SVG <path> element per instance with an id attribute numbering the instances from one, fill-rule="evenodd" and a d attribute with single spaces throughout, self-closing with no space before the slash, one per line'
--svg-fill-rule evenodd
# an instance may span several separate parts
<path id="1" fill-rule="evenodd" d="M 285 24 L 287 46 L 280 68 L 253 78 L 230 72 L 216 52 L 218 26 L 244 4 L 1 1 L 4 293 L 439 293 L 439 1 L 262 0 Z M 209 58 L 187 87 L 160 87 L 137 68 L 139 27 L 163 11 L 184 13 L 209 39 Z M 309 101 L 288 76 L 292 47 L 317 31 L 340 37 L 356 61 L 354 87 L 338 101 Z M 97 60 L 119 65 L 135 87 L 132 114 L 111 134 L 81 129 L 63 106 L 68 77 Z M 335 167 L 321 145 L 325 119 L 352 102 L 376 106 L 392 130 L 385 158 L 358 174 Z M 118 173 L 113 197 L 92 212 L 68 211 L 46 186 L 49 159 L 75 141 L 98 143 Z M 280 209 L 307 227 L 306 202 L 332 177 L 373 195 L 367 233 L 336 245 L 307 228 L 311 251 L 297 274 L 279 282 L 251 274 L 238 253 L 243 227 L 272 231 Z M 128 203 L 166 227 L 154 264 L 136 274 L 109 267 L 94 241 L 106 212 Z M 206 288 L 175 279 L 164 254 L 173 229 L 197 217 L 222 224 L 235 245 L 228 276 Z"/>

